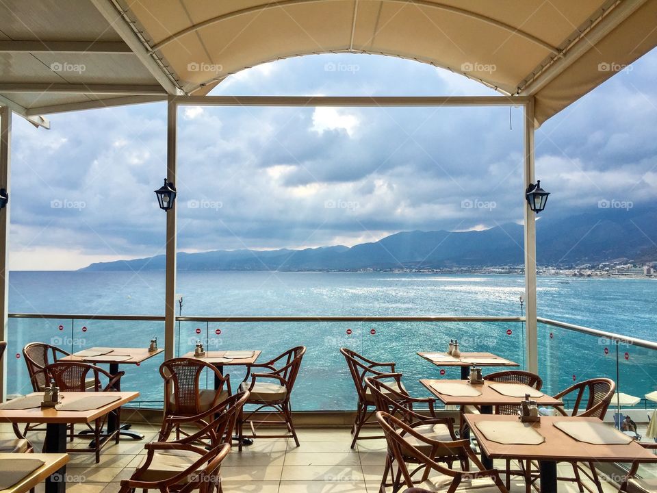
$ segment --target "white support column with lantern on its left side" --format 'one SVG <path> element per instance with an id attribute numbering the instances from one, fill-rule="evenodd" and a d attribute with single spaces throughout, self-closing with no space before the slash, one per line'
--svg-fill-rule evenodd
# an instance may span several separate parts
<path id="1" fill-rule="evenodd" d="M 177 186 L 178 166 L 177 134 L 178 106 L 172 98 L 168 99 L 166 110 L 166 179 Z M 174 357 L 176 338 L 176 201 L 166 212 L 166 287 L 164 290 L 164 358 Z"/>

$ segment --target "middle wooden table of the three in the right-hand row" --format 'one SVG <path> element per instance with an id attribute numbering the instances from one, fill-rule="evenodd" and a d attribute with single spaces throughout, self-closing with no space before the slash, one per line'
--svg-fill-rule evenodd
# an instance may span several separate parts
<path id="1" fill-rule="evenodd" d="M 426 390 L 435 395 L 441 402 L 445 405 L 458 405 L 461 406 L 461 414 L 463 413 L 463 408 L 467 405 L 477 406 L 481 414 L 491 415 L 493 414 L 493 406 L 496 405 L 519 405 L 521 401 L 524 401 L 522 397 L 511 397 L 500 394 L 500 392 L 491 388 L 491 383 L 502 383 L 495 381 L 484 380 L 484 383 L 471 385 L 469 382 L 464 382 L 463 380 L 443 380 L 443 379 L 421 379 L 420 383 L 424 385 Z M 433 386 L 432 383 L 459 383 L 461 385 L 468 385 L 472 388 L 475 388 L 481 395 L 478 396 L 450 396 L 446 394 L 441 394 Z M 547 394 L 543 394 L 541 397 L 532 397 L 533 401 L 536 401 L 538 405 L 553 407 L 556 405 L 562 405 L 563 403 L 559 399 L 554 399 L 554 397 Z M 468 414 L 464 414 L 468 416 Z M 515 417 L 515 416 L 514 416 Z M 468 438 L 469 435 L 463 435 L 463 438 Z M 482 455 L 482 463 L 487 468 L 493 466 L 493 462 L 489 457 Z"/>

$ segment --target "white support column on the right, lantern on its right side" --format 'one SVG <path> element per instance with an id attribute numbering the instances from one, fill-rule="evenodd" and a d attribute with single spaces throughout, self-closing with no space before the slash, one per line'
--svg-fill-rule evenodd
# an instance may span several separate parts
<path id="1" fill-rule="evenodd" d="M 538 330 L 536 321 L 536 213 L 525 200 L 524 192 L 530 183 L 534 183 L 534 99 L 525 105 L 524 124 L 524 188 L 522 201 L 525 206 L 525 317 L 527 370 L 538 373 Z"/>

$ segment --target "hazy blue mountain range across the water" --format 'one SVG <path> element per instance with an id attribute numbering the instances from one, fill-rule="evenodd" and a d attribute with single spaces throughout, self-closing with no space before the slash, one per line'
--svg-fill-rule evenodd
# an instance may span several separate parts
<path id="1" fill-rule="evenodd" d="M 301 250 L 178 253 L 179 270 L 390 270 L 523 264 L 523 227 L 484 231 L 402 231 L 381 240 Z M 657 208 L 597 209 L 537 220 L 537 264 L 575 266 L 657 260 Z M 165 257 L 91 264 L 81 270 L 164 270 Z"/>

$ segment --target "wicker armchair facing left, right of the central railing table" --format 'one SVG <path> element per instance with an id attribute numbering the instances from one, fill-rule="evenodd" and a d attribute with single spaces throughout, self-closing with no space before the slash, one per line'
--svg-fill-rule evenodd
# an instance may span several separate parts
<path id="1" fill-rule="evenodd" d="M 292 407 L 289 397 L 294 388 L 294 382 L 301 367 L 301 360 L 306 353 L 305 346 L 297 346 L 285 351 L 280 356 L 275 357 L 269 362 L 263 364 L 254 364 L 248 368 L 244 381 L 240 384 L 240 390 L 250 392 L 247 404 L 255 404 L 257 407 L 248 412 L 246 416 L 242 412 L 237 424 L 237 431 L 240 435 L 238 449 L 242 451 L 242 442 L 244 438 L 294 438 L 294 443 L 299 446 L 299 439 L 296 436 L 296 430 L 292 423 Z M 282 365 L 282 366 L 281 366 Z M 252 373 L 252 370 L 258 370 Z M 268 371 L 261 371 L 268 370 Z M 250 377 L 250 382 L 248 378 Z M 279 416 L 280 419 L 254 419 L 255 414 L 262 409 L 272 409 L 273 414 L 270 416 Z M 244 435 L 244 425 L 251 429 L 250 435 Z M 285 425 L 287 433 L 285 435 L 257 435 L 255 429 L 259 426 L 276 426 Z"/>

